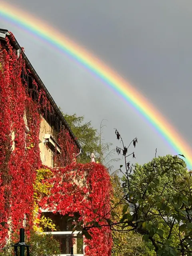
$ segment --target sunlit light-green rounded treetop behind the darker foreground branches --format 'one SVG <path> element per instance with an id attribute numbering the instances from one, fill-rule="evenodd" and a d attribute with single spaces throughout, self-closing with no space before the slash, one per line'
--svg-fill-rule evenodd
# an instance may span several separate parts
<path id="1" fill-rule="evenodd" d="M 130 174 L 132 189 L 139 189 L 142 192 L 148 184 L 148 178 L 153 174 L 153 169 L 156 174 L 147 189 L 156 194 L 154 188 L 158 188 L 159 191 L 163 191 L 162 196 L 172 193 L 178 180 L 185 176 L 187 171 L 186 164 L 179 158 L 174 158 L 171 155 L 159 156 L 147 164 L 134 166 L 134 172 Z M 126 181 L 126 178 L 123 177 L 122 180 Z"/>

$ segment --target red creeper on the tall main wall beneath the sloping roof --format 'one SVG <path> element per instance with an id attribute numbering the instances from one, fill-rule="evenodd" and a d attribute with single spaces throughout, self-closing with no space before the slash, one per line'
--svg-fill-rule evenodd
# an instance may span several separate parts
<path id="1" fill-rule="evenodd" d="M 54 116 L 54 110 L 26 69 L 22 55 L 16 58 L 8 38 L 0 43 L 0 63 L 0 220 L 11 223 L 14 231 L 23 225 L 24 214 L 29 216 L 28 225 L 32 224 L 33 184 L 36 170 L 42 165 L 40 122 L 42 116 Z M 26 132 L 24 115 L 29 132 Z M 64 126 L 60 126 L 60 133 L 67 134 Z M 66 164 L 76 148 L 70 138 L 63 139 L 61 153 Z M 8 224 L 0 226 L 2 243 L 8 235 Z"/>

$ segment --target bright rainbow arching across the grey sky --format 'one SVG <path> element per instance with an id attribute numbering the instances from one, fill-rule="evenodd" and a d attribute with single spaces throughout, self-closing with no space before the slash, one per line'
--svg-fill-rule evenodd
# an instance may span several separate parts
<path id="1" fill-rule="evenodd" d="M 192 148 L 184 138 L 182 138 L 174 127 L 171 126 L 162 114 L 138 90 L 106 66 L 101 60 L 84 50 L 78 44 L 72 42 L 63 33 L 52 28 L 50 24 L 46 24 L 39 18 L 1 0 L 0 18 L 18 25 L 20 28 L 27 30 L 27 32 L 38 36 L 40 39 L 46 40 L 46 42 L 72 56 L 79 63 L 102 78 L 105 84 L 112 88 L 118 95 L 122 96 L 126 102 L 132 105 L 134 109 L 152 124 L 162 138 L 174 149 L 176 154 L 184 154 L 189 168 L 192 166 Z M 54 37 L 50 35 L 50 31 L 54 31 Z"/>

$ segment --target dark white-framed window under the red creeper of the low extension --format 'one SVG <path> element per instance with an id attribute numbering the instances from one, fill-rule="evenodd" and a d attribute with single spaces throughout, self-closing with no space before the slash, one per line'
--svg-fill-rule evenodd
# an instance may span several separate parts
<path id="1" fill-rule="evenodd" d="M 42 216 L 50 218 L 56 225 L 56 231 L 52 232 L 49 228 L 44 228 L 44 233 L 52 234 L 53 238 L 60 242 L 60 255 L 70 255 L 70 248 L 73 247 L 73 253 L 76 256 L 83 256 L 84 243 L 83 236 L 80 230 L 72 233 L 72 224 L 74 219 L 69 215 L 61 215 L 59 212 L 53 214 L 52 212 L 42 212 Z M 75 214 L 78 218 L 78 214 Z"/>

